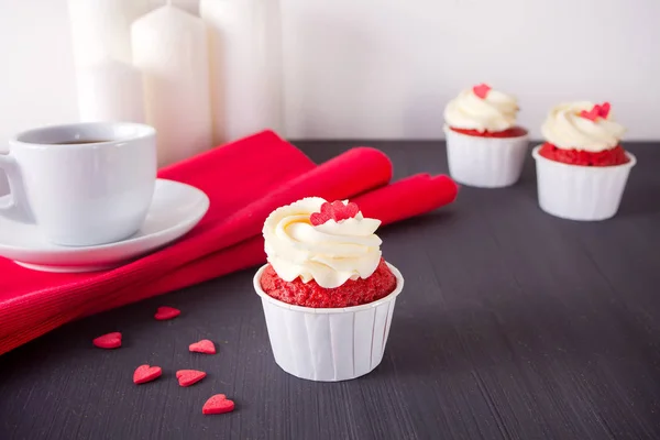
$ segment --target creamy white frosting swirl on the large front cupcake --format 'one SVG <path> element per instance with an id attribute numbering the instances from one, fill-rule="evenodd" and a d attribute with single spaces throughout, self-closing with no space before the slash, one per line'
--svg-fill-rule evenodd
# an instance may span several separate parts
<path id="1" fill-rule="evenodd" d="M 326 200 L 309 197 L 273 211 L 263 234 L 268 263 L 277 275 L 293 282 L 311 279 L 334 288 L 348 279 L 367 278 L 381 262 L 380 220 L 354 218 L 312 226 L 309 218 Z M 345 202 L 344 202 L 345 205 Z"/>

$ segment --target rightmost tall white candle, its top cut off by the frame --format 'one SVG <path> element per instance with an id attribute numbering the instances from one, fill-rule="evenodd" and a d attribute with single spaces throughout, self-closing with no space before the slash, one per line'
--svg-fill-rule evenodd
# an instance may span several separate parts
<path id="1" fill-rule="evenodd" d="M 279 0 L 201 0 L 216 142 L 282 130 Z"/>

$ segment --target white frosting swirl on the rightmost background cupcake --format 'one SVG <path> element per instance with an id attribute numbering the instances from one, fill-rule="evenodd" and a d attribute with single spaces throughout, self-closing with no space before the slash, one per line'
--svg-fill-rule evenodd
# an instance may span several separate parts
<path id="1" fill-rule="evenodd" d="M 598 153 L 614 148 L 626 129 L 612 119 L 612 113 L 595 121 L 580 116 L 582 111 L 593 108 L 594 103 L 588 101 L 561 103 L 552 108 L 541 127 L 543 138 L 564 150 Z"/>

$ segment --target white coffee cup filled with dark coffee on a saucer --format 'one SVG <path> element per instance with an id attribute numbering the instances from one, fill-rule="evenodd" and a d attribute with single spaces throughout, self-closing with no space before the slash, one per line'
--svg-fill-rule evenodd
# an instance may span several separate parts
<path id="1" fill-rule="evenodd" d="M 117 242 L 138 232 L 156 182 L 156 132 L 132 122 L 29 130 L 0 154 L 10 194 L 0 216 L 35 223 L 61 245 Z"/>

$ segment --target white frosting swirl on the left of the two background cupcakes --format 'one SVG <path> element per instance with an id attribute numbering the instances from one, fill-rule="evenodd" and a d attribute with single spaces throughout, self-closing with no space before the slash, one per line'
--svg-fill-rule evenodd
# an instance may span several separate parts
<path id="1" fill-rule="evenodd" d="M 488 90 L 485 98 L 474 89 L 463 90 L 444 108 L 444 121 L 454 129 L 498 132 L 516 125 L 518 100 L 502 91 Z"/>

